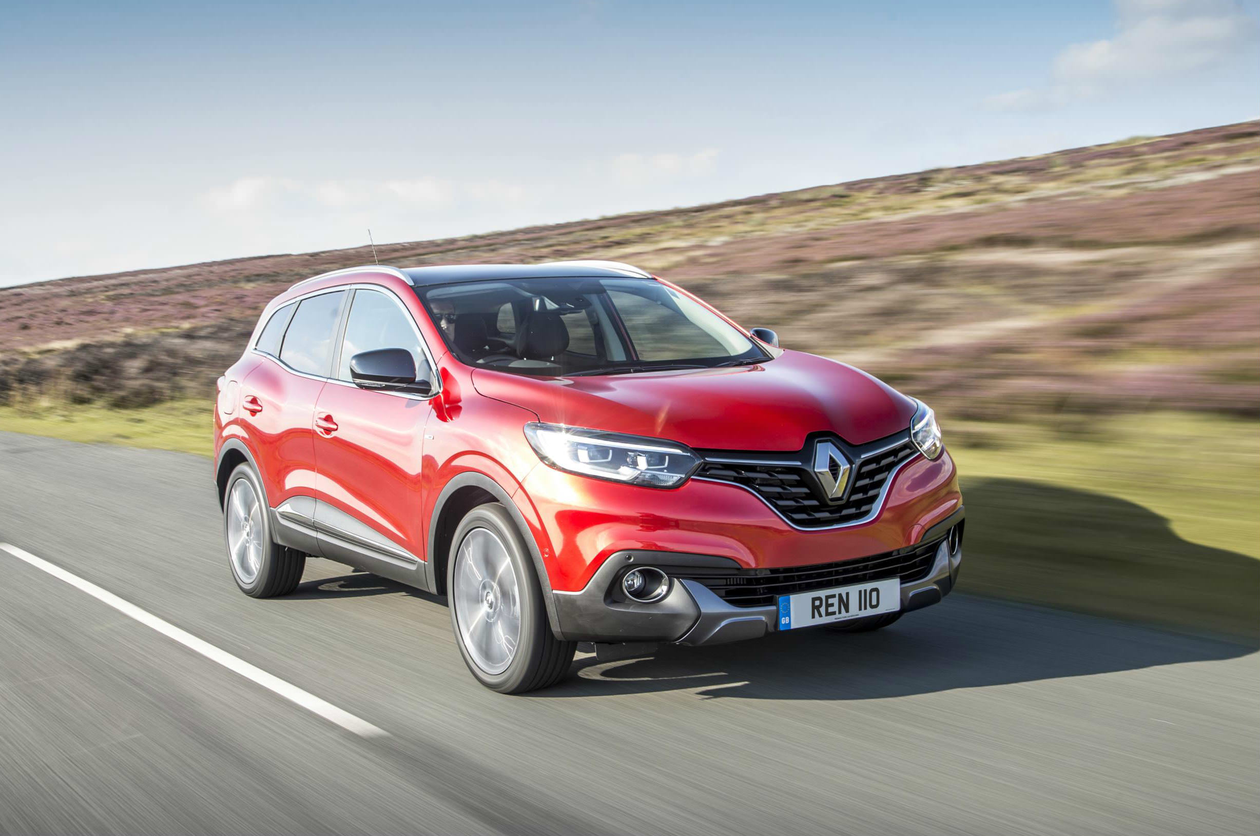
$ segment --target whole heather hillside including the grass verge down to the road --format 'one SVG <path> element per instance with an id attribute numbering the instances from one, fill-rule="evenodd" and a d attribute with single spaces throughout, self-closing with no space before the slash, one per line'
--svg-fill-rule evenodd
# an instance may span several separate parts
<path id="1" fill-rule="evenodd" d="M 968 593 L 1255 638 L 1260 122 L 379 249 L 641 264 L 936 407 Z M 0 290 L 0 429 L 207 453 L 266 301 L 369 261 Z"/>

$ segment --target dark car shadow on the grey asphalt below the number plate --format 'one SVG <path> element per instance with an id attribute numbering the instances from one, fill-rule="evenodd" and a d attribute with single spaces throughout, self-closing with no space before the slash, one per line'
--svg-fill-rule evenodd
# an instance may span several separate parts
<path id="1" fill-rule="evenodd" d="M 1254 645 L 955 596 L 873 633 L 806 630 L 651 657 L 580 657 L 541 699 L 698 689 L 706 698 L 869 700 L 1235 658 Z"/>

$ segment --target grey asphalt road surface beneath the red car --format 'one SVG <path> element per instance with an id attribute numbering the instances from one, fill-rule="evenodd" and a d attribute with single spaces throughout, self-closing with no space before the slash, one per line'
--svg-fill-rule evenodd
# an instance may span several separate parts
<path id="1" fill-rule="evenodd" d="M 0 832 L 1255 833 L 1254 647 L 965 594 L 881 633 L 598 664 L 507 698 L 444 603 L 324 560 L 237 592 L 205 460 L 0 433 Z M 965 590 L 964 563 L 964 590 Z"/>

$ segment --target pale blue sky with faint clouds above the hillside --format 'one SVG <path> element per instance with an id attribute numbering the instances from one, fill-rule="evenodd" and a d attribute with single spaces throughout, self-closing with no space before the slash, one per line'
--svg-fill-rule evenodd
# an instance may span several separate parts
<path id="1" fill-rule="evenodd" d="M 10 0 L 0 286 L 1257 118 L 1257 4 Z"/>

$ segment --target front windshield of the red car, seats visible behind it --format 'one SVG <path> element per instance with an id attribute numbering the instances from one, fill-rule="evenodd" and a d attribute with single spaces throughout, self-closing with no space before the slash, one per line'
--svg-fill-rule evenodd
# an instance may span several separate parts
<path id="1" fill-rule="evenodd" d="M 461 361 L 536 375 L 631 374 L 769 356 L 703 305 L 640 278 L 523 278 L 417 288 Z"/>

